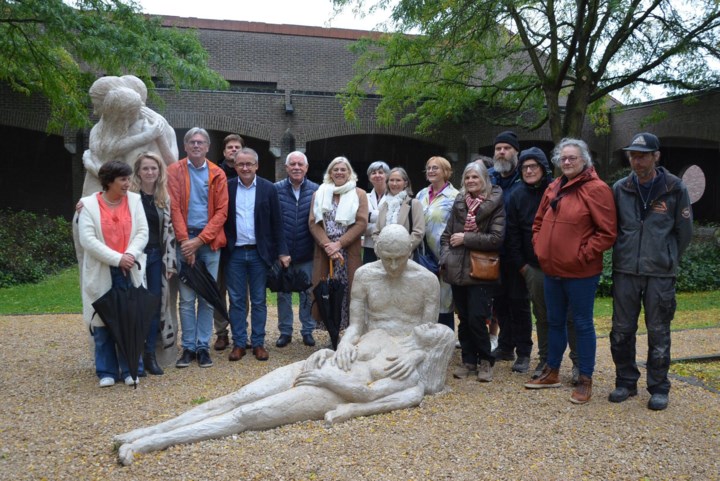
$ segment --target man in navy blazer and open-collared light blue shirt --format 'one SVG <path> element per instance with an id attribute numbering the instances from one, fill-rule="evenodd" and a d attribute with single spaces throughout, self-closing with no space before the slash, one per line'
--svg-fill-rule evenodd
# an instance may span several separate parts
<path id="1" fill-rule="evenodd" d="M 250 342 L 253 355 L 258 361 L 268 359 L 265 349 L 267 273 L 276 260 L 284 267 L 289 266 L 291 260 L 277 190 L 272 182 L 256 175 L 257 169 L 257 152 L 245 147 L 235 154 L 238 176 L 228 181 L 227 246 L 223 259 L 234 345 L 230 361 L 239 361 L 245 356 L 248 292 L 252 306 Z"/>

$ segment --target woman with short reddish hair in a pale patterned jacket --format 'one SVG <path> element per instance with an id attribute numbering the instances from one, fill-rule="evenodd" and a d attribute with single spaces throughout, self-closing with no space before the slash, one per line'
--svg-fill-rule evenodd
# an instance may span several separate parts
<path id="1" fill-rule="evenodd" d="M 444 157 L 430 157 L 425 162 L 425 178 L 428 187 L 418 192 L 417 200 L 423 206 L 425 214 L 425 242 L 436 259 L 440 259 L 440 236 L 450 217 L 458 190 L 450 183 L 452 167 Z M 437 273 L 436 273 L 437 274 Z M 450 284 L 440 280 L 440 316 L 438 322 L 455 330 L 455 314 Z"/>

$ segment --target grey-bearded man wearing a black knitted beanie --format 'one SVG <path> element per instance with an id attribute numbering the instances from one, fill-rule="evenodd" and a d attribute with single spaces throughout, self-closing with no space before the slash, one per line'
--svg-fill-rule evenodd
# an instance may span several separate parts
<path id="1" fill-rule="evenodd" d="M 495 154 L 490 179 L 503 190 L 505 215 L 507 217 L 509 201 L 513 192 L 523 185 L 518 169 L 520 142 L 515 132 L 506 130 L 495 137 Z M 534 215 L 535 212 L 533 211 Z M 493 351 L 498 361 L 517 360 L 512 366 L 514 372 L 525 373 L 530 369 L 532 351 L 532 317 L 530 300 L 520 271 L 512 267 L 507 260 L 508 237 L 505 237 L 500 252 L 500 271 L 502 285 L 493 298 L 493 309 L 500 324 L 498 347 Z"/>

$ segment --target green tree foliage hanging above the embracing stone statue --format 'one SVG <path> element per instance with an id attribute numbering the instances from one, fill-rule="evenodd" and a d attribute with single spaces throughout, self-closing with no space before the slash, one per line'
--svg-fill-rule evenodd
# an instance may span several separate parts
<path id="1" fill-rule="evenodd" d="M 100 75 L 225 88 L 207 61 L 194 32 L 163 28 L 132 0 L 0 0 L 0 81 L 43 95 L 50 131 L 89 125 L 87 91 Z"/>

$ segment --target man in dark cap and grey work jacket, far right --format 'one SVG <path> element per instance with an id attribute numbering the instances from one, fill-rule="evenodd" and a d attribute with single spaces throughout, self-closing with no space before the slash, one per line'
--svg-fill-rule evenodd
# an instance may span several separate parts
<path id="1" fill-rule="evenodd" d="M 675 315 L 675 278 L 692 238 L 690 196 L 660 160 L 660 141 L 649 133 L 633 137 L 632 173 L 615 183 L 618 235 L 613 248 L 613 319 L 610 350 L 615 390 L 610 402 L 637 394 L 635 333 L 641 305 L 648 331 L 648 408 L 665 409 L 670 381 L 670 322 Z"/>

